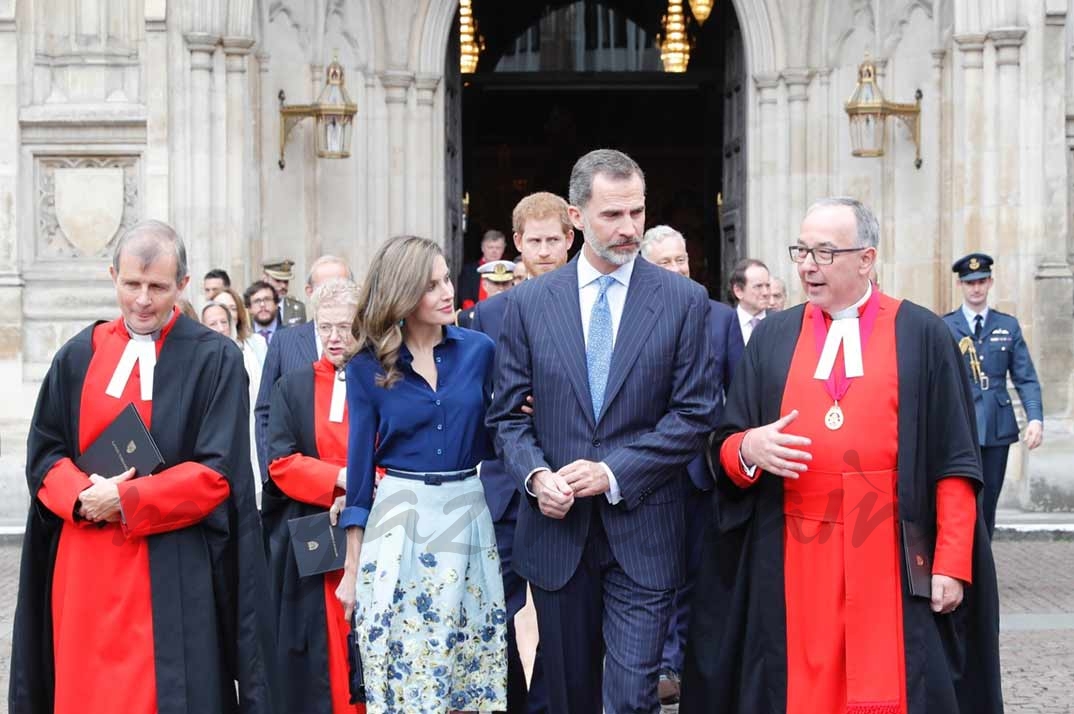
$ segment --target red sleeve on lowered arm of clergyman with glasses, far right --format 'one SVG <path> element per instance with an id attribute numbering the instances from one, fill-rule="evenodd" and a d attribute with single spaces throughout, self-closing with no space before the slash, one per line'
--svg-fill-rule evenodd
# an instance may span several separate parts
<path id="1" fill-rule="evenodd" d="M 973 534 L 977 498 L 969 479 L 953 477 L 937 484 L 937 550 L 932 573 L 973 582 Z"/>

